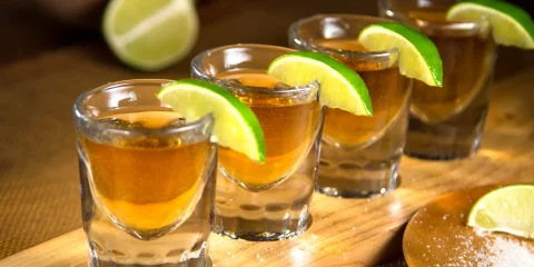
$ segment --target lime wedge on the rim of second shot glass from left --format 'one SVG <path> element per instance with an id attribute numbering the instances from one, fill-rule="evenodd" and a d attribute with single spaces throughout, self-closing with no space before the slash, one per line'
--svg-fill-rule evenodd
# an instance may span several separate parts
<path id="1" fill-rule="evenodd" d="M 372 116 L 370 97 L 364 80 L 344 63 L 318 52 L 296 51 L 275 59 L 267 72 L 288 86 L 319 82 L 323 106 L 359 116 Z"/>

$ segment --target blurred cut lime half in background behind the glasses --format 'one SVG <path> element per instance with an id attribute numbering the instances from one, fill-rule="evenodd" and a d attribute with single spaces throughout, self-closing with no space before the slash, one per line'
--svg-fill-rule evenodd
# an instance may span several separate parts
<path id="1" fill-rule="evenodd" d="M 103 36 L 126 65 L 146 71 L 186 57 L 197 40 L 192 0 L 112 0 L 103 14 Z"/>

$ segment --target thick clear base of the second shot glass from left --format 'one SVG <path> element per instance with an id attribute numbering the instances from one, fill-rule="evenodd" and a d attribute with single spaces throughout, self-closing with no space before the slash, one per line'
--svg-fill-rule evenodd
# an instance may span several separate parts
<path id="1" fill-rule="evenodd" d="M 293 175 L 280 185 L 251 192 L 219 174 L 212 231 L 234 239 L 283 240 L 308 228 L 315 179 Z"/>

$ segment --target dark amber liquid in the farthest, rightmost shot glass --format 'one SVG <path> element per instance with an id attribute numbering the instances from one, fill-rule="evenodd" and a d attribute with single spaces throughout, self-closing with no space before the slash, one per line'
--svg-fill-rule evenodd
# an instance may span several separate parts
<path id="1" fill-rule="evenodd" d="M 464 111 L 487 86 L 495 43 L 491 34 L 479 30 L 453 33 L 424 26 L 445 23 L 441 11 L 414 10 L 408 16 L 436 44 L 444 70 L 442 88 L 415 81 L 412 112 L 428 123 L 438 123 Z"/>

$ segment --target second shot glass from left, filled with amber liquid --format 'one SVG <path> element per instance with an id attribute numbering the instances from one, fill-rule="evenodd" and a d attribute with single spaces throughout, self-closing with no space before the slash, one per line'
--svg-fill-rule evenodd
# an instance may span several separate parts
<path id="1" fill-rule="evenodd" d="M 236 44 L 198 55 L 194 78 L 236 95 L 257 116 L 266 141 L 266 162 L 219 148 L 214 231 L 246 240 L 297 236 L 309 222 L 317 176 L 323 109 L 318 85 L 291 88 L 266 73 L 291 49 Z"/>

